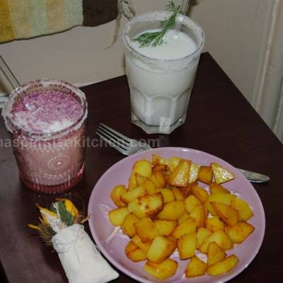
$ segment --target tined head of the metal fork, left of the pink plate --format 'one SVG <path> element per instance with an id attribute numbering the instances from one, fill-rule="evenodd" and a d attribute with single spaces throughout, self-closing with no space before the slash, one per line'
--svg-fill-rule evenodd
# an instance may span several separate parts
<path id="1" fill-rule="evenodd" d="M 96 134 L 103 139 L 103 141 L 114 147 L 114 149 L 127 156 L 135 154 L 139 151 L 144 151 L 146 149 L 152 149 L 151 146 L 145 142 L 137 141 L 136 139 L 130 139 L 129 137 L 124 136 L 124 134 L 115 131 L 115 129 L 111 129 L 103 123 L 98 125 Z"/>

